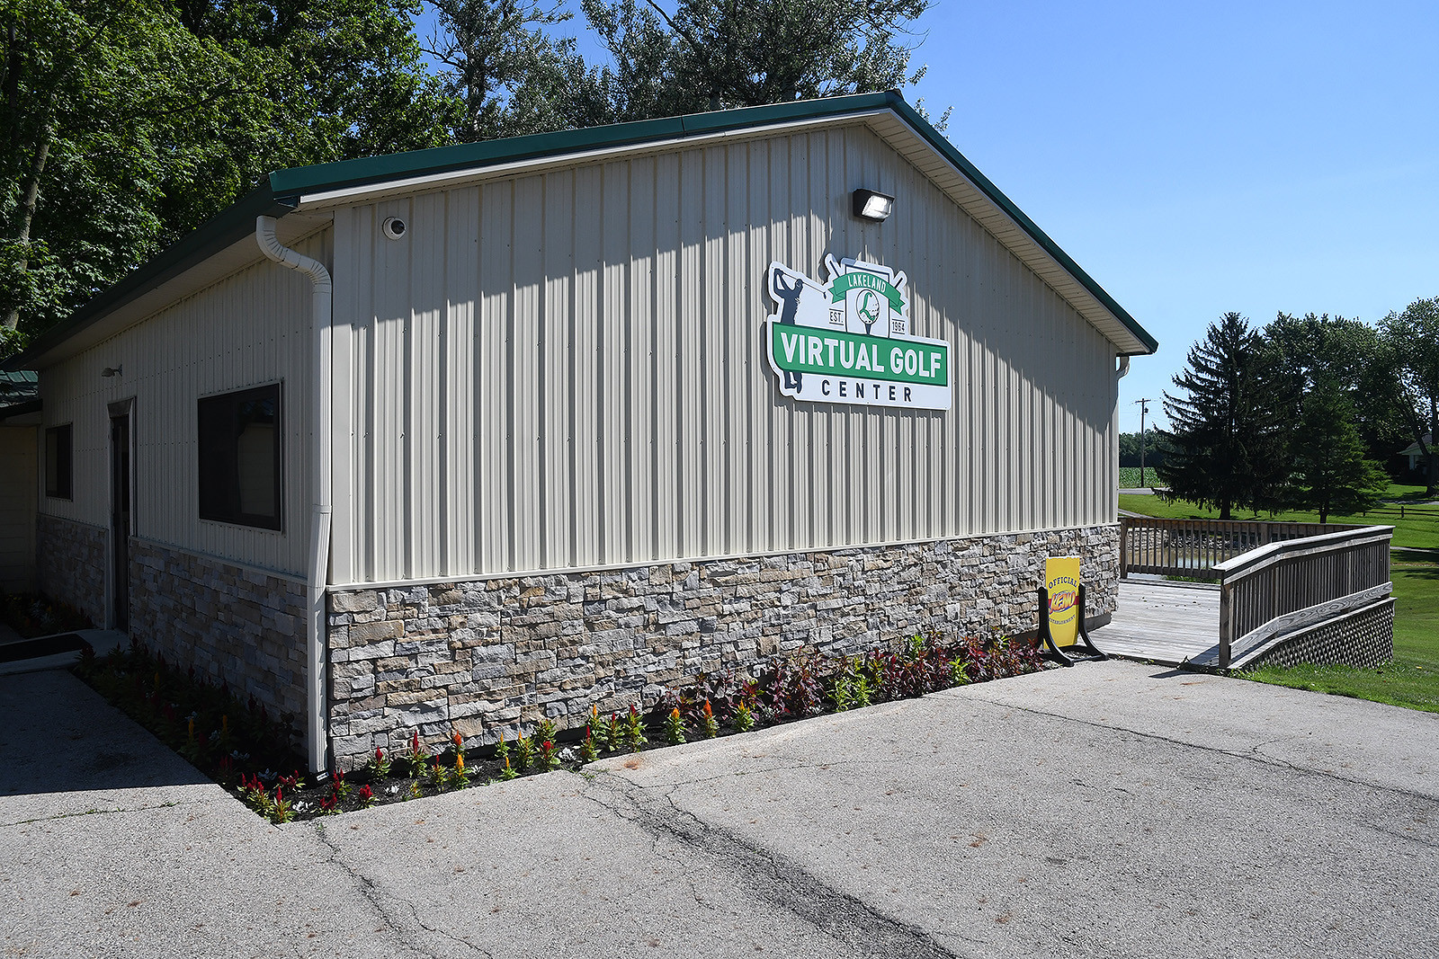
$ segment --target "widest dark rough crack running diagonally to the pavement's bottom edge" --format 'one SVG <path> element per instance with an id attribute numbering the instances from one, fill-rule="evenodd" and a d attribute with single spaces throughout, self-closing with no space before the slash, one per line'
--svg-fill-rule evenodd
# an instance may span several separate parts
<path id="1" fill-rule="evenodd" d="M 604 795 L 596 795 L 597 791 Z M 743 876 L 747 891 L 791 913 L 858 955 L 876 959 L 957 959 L 955 953 L 920 926 L 886 916 L 853 896 L 826 886 L 796 863 L 679 808 L 672 791 L 656 795 L 627 779 L 600 772 L 580 795 L 633 822 L 656 840 L 678 841 L 718 860 L 722 864 L 720 874 Z M 682 864 L 689 871 L 695 868 L 692 860 Z"/>

